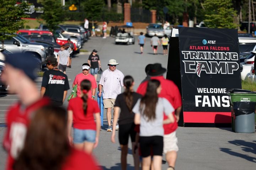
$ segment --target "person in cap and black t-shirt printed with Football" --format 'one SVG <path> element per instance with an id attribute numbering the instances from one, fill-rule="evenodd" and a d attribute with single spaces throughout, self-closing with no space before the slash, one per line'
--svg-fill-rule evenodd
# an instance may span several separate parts
<path id="1" fill-rule="evenodd" d="M 62 106 L 69 90 L 68 77 L 57 68 L 54 56 L 47 57 L 42 64 L 46 64 L 49 70 L 43 74 L 41 96 L 47 96 L 54 105 Z"/>

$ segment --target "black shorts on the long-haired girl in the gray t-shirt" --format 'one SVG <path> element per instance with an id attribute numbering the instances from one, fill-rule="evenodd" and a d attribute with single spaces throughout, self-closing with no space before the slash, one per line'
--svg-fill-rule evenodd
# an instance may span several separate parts
<path id="1" fill-rule="evenodd" d="M 153 150 L 153 155 L 162 156 L 164 138 L 162 136 L 140 136 L 140 151 L 142 157 L 148 157 Z"/>

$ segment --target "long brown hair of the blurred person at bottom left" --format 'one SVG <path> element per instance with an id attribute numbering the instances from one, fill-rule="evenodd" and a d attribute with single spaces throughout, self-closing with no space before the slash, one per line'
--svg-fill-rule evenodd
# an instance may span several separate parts
<path id="1" fill-rule="evenodd" d="M 13 168 L 59 170 L 70 152 L 66 111 L 57 106 L 45 106 L 34 113 L 24 148 Z"/>

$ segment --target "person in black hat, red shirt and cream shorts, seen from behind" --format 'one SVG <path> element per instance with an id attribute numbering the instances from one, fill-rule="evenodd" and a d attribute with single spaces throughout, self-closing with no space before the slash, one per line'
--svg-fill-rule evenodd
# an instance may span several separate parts
<path id="1" fill-rule="evenodd" d="M 160 63 L 155 63 L 150 66 L 148 75 L 151 77 L 150 79 L 159 80 L 161 83 L 162 90 L 158 97 L 166 98 L 175 109 L 172 113 L 174 115 L 175 122 L 164 125 L 164 153 L 169 164 L 169 168 L 167 170 L 174 170 L 178 152 L 176 130 L 178 128 L 177 122 L 180 119 L 182 102 L 178 87 L 173 81 L 166 80 L 164 78 L 163 74 L 165 72 L 166 69 L 163 68 Z M 147 85 L 148 81 L 141 83 L 137 89 L 137 93 L 145 95 Z M 167 119 L 167 116 L 164 114 L 164 120 L 165 119 Z"/>

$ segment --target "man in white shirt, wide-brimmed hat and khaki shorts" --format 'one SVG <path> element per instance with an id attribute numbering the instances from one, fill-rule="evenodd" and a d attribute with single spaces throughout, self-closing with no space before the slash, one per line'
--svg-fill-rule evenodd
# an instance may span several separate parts
<path id="1" fill-rule="evenodd" d="M 103 92 L 103 104 L 104 108 L 107 109 L 108 132 L 112 132 L 111 108 L 114 109 L 116 97 L 121 94 L 121 87 L 123 87 L 124 75 L 121 71 L 116 69 L 118 64 L 116 60 L 111 59 L 108 63 L 109 68 L 102 73 L 99 83 L 99 97 L 101 97 L 101 92 Z M 116 129 L 119 129 L 118 124 Z"/>

